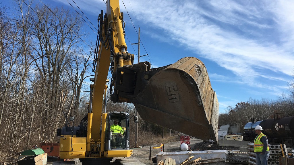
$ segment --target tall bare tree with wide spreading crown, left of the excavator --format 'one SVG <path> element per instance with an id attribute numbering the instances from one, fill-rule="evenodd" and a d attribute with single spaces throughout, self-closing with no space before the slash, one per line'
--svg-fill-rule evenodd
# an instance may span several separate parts
<path id="1" fill-rule="evenodd" d="M 62 95 L 68 85 L 65 85 L 69 78 L 66 75 L 66 67 L 72 58 L 71 52 L 73 46 L 77 45 L 83 37 L 80 33 L 81 19 L 69 11 L 62 8 L 48 9 L 37 6 L 37 14 L 31 18 L 35 27 L 32 35 L 38 38 L 38 41 L 31 44 L 34 51 L 35 65 L 41 75 L 41 84 L 43 86 L 44 114 L 42 114 L 43 126 L 41 130 L 48 130 L 51 126 L 57 129 L 60 125 L 53 124 L 51 121 L 59 123 L 56 114 L 61 114 L 65 108 L 66 100 Z M 69 92 L 71 93 L 71 92 Z M 65 97 L 66 98 L 66 97 Z M 61 106 L 62 105 L 62 106 Z M 61 109 L 62 108 L 62 109 Z M 54 132 L 56 130 L 53 130 Z M 42 133 L 42 139 L 45 135 Z M 52 140 L 54 135 L 49 135 Z"/>

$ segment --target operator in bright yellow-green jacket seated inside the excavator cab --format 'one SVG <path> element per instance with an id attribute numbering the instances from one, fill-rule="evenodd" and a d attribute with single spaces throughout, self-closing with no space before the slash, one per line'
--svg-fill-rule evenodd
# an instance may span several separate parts
<path id="1" fill-rule="evenodd" d="M 118 122 L 118 119 L 114 119 L 114 123 L 110 126 L 110 131 L 112 132 L 111 147 L 119 147 L 122 143 L 124 130 L 118 125 Z M 116 144 L 116 142 L 118 143 Z"/>

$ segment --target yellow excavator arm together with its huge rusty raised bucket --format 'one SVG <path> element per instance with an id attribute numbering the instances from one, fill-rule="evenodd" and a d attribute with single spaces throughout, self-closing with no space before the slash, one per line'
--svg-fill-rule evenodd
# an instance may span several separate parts
<path id="1" fill-rule="evenodd" d="M 133 64 L 134 55 L 127 52 L 123 27 L 118 0 L 107 1 L 107 12 L 103 19 L 100 16 L 95 99 L 102 99 L 96 95 L 102 93 L 104 85 L 99 84 L 97 92 L 97 83 L 105 83 L 110 64 L 111 101 L 133 103 L 144 120 L 217 142 L 218 100 L 204 64 L 194 57 L 152 69 L 149 62 Z M 96 108 L 101 111 L 101 107 Z"/>

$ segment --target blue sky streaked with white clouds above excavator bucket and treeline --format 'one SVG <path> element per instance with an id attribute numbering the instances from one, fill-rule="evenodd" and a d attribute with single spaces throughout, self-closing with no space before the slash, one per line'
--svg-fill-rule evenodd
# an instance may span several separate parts
<path id="1" fill-rule="evenodd" d="M 64 6 L 65 0 L 42 0 Z M 73 6 L 72 0 L 68 0 Z M 106 0 L 104 0 L 106 2 Z M 93 25 L 106 5 L 103 0 L 75 0 Z M 153 68 L 183 57 L 199 58 L 205 65 L 219 101 L 219 112 L 241 101 L 288 92 L 294 63 L 294 1 L 124 0 L 136 30 L 141 28 L 140 54 L 149 55 Z M 5 2 L 4 2 L 5 3 Z M 40 3 L 35 0 L 34 3 Z M 126 36 L 138 36 L 120 0 Z M 85 19 L 86 20 L 86 19 Z M 85 24 L 88 41 L 96 34 Z M 127 41 L 128 52 L 137 46 Z M 148 56 L 140 61 L 149 61 Z M 137 61 L 137 59 L 135 59 Z"/>

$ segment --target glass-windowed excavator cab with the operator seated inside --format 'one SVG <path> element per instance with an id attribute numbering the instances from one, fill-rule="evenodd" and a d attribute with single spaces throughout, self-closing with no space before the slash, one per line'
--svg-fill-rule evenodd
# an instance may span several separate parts
<path id="1" fill-rule="evenodd" d="M 128 150 L 129 114 L 126 112 L 108 112 L 106 120 L 105 150 Z"/>

